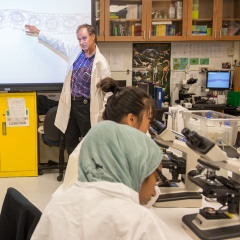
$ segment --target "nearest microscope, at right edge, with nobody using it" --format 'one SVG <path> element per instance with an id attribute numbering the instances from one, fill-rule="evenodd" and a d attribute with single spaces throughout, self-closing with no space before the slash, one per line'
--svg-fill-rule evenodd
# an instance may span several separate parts
<path id="1" fill-rule="evenodd" d="M 228 158 L 215 143 L 194 131 L 184 128 L 182 134 L 186 145 L 200 155 L 199 165 L 188 172 L 188 179 L 202 189 L 202 195 L 222 205 L 219 209 L 205 207 L 197 214 L 184 216 L 184 229 L 194 239 L 240 239 L 239 159 Z M 216 175 L 220 168 L 231 172 L 232 177 Z"/>

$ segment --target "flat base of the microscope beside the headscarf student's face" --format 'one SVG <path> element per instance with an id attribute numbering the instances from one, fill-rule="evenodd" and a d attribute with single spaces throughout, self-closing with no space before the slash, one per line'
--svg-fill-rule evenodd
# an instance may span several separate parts
<path id="1" fill-rule="evenodd" d="M 160 194 L 153 206 L 158 208 L 199 208 L 202 206 L 202 195 L 198 192 Z"/>

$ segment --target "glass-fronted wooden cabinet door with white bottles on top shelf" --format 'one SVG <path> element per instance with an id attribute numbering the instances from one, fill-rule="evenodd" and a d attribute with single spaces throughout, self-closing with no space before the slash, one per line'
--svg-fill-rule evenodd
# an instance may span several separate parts
<path id="1" fill-rule="evenodd" d="M 152 0 L 147 7 L 147 41 L 186 40 L 187 0 Z"/>

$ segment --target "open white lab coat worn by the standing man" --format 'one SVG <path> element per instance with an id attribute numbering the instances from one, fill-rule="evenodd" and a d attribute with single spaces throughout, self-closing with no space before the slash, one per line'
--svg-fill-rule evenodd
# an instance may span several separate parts
<path id="1" fill-rule="evenodd" d="M 58 111 L 55 119 L 55 125 L 63 133 L 65 133 L 68 125 L 68 120 L 71 110 L 71 76 L 72 76 L 72 66 L 82 49 L 79 44 L 71 44 L 62 41 L 61 39 L 55 38 L 43 31 L 40 31 L 38 39 L 42 42 L 53 47 L 58 52 L 63 53 L 68 57 L 68 66 L 65 75 L 65 80 L 63 84 L 62 93 L 59 99 Z M 98 47 L 96 46 L 95 59 L 92 67 L 91 75 L 91 102 L 90 102 L 90 120 L 91 126 L 101 121 L 101 109 L 103 106 L 103 92 L 97 89 L 97 83 L 106 77 L 111 77 L 111 72 L 107 60 L 100 53 Z"/>

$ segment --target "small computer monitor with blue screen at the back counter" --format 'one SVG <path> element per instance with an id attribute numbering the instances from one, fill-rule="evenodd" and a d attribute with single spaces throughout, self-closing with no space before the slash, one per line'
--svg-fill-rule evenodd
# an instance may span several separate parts
<path id="1" fill-rule="evenodd" d="M 231 71 L 207 71 L 206 88 L 210 90 L 228 90 L 231 85 Z"/>

